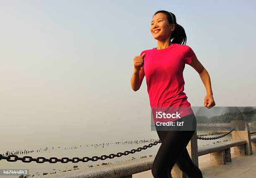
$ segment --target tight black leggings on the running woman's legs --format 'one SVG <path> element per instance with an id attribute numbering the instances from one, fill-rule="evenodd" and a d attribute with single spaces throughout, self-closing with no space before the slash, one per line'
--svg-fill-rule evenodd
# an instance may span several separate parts
<path id="1" fill-rule="evenodd" d="M 182 117 L 183 120 L 193 120 L 196 126 L 194 114 Z M 169 126 L 170 127 L 170 126 Z M 161 146 L 154 159 L 152 175 L 154 178 L 172 178 L 171 170 L 176 163 L 179 169 L 189 178 L 202 178 L 201 170 L 193 163 L 187 152 L 187 144 L 195 133 L 195 130 L 157 130 Z"/>

